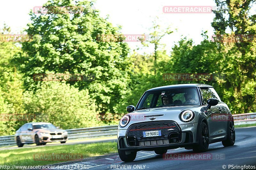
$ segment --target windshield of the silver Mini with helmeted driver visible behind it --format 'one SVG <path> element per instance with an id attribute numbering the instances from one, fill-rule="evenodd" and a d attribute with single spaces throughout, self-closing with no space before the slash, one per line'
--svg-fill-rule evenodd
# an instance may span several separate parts
<path id="1" fill-rule="evenodd" d="M 146 92 L 138 108 L 199 105 L 196 88 L 172 88 Z"/>

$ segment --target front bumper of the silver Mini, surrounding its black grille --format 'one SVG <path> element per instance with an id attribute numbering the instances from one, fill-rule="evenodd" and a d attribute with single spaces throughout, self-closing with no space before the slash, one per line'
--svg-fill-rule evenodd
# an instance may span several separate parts
<path id="1" fill-rule="evenodd" d="M 164 127 L 160 129 L 154 128 L 155 130 L 162 130 L 161 137 L 154 137 L 154 138 L 143 138 L 139 136 L 139 133 L 130 133 L 132 126 L 136 126 L 136 128 L 140 128 L 141 124 L 148 124 L 151 127 L 157 125 L 159 123 L 166 123 L 167 121 L 157 121 L 157 122 L 150 122 L 150 123 L 137 123 L 129 126 L 128 129 L 118 129 L 117 136 L 118 136 L 118 150 L 125 150 L 125 151 L 154 151 L 156 149 L 175 149 L 179 147 L 191 147 L 192 145 L 198 144 L 196 142 L 196 129 L 197 123 L 188 123 L 183 125 L 178 125 L 176 122 L 168 121 L 167 123 L 173 123 L 176 128 L 170 133 L 178 133 L 177 139 L 175 141 L 171 141 L 172 135 L 170 135 L 169 131 L 163 130 Z M 170 125 L 173 125 L 170 124 Z M 167 127 L 169 129 L 169 127 Z M 153 129 L 153 128 L 150 128 Z M 145 131 L 145 130 L 144 130 Z M 133 138 L 134 142 L 131 142 L 131 134 L 134 135 Z M 147 140 L 148 141 L 145 141 Z M 144 141 L 144 142 L 141 142 Z"/>

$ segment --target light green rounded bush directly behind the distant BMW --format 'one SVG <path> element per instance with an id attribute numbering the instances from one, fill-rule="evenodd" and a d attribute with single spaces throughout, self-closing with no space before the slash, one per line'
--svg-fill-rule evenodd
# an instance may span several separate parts
<path id="1" fill-rule="evenodd" d="M 51 122 L 63 129 L 98 126 L 95 100 L 88 90 L 61 82 L 44 82 L 35 93 L 24 93 L 27 113 L 35 122 Z"/>

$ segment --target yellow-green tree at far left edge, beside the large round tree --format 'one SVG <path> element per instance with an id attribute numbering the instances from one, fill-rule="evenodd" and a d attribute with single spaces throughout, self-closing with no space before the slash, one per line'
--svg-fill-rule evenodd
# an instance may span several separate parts
<path id="1" fill-rule="evenodd" d="M 5 35 L 11 34 L 11 28 L 4 24 L 0 29 L 0 135 L 11 135 L 15 129 L 24 124 L 23 120 L 17 119 L 23 115 L 22 105 L 22 74 L 16 69 L 17 63 L 13 63 L 14 55 L 20 52 L 20 43 L 12 40 L 5 41 Z"/>

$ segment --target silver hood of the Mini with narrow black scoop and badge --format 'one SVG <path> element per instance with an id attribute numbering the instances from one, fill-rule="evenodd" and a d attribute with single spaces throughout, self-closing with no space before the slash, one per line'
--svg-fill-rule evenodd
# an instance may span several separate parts
<path id="1" fill-rule="evenodd" d="M 150 108 L 143 110 L 135 110 L 126 115 L 130 115 L 131 120 L 127 126 L 121 129 L 127 129 L 130 125 L 140 122 L 152 122 L 152 121 L 175 121 L 179 125 L 196 123 L 197 116 L 201 106 L 175 106 L 175 107 L 160 107 L 160 108 Z M 180 113 L 185 110 L 192 110 L 196 114 L 196 117 L 191 122 L 185 123 L 180 120 Z M 120 128 L 120 127 L 119 127 Z"/>

